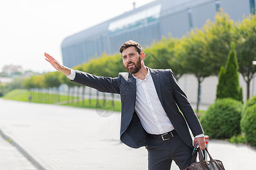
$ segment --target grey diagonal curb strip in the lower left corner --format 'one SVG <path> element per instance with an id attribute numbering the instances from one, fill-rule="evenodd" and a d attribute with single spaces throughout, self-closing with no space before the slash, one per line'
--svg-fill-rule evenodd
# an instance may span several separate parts
<path id="1" fill-rule="evenodd" d="M 40 165 L 32 156 L 30 156 L 22 147 L 18 145 L 18 143 L 14 142 L 13 139 L 8 137 L 3 131 L 0 129 L 0 135 L 5 139 L 7 142 L 11 143 L 23 156 L 25 156 L 34 166 L 39 170 L 46 170 Z"/>

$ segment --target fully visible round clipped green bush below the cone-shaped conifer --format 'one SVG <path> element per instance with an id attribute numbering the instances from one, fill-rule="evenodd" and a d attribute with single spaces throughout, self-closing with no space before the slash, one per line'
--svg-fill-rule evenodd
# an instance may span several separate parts
<path id="1" fill-rule="evenodd" d="M 241 101 L 217 99 L 200 118 L 205 134 L 214 139 L 226 139 L 240 134 L 242 108 Z"/>

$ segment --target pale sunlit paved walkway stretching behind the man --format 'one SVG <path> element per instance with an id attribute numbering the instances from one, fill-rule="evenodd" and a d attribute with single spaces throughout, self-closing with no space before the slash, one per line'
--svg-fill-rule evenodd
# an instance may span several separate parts
<path id="1" fill-rule="evenodd" d="M 133 149 L 120 143 L 120 114 L 110 114 L 101 117 L 109 112 L 0 99 L 0 129 L 43 169 L 146 170 L 146 149 Z M 13 153 L 11 160 L 7 154 L 0 154 L 0 167 L 2 162 L 7 162 L 5 169 L 15 169 L 11 167 L 14 164 L 19 170 L 33 169 L 26 167 L 31 166 L 27 159 L 23 158 L 20 164 L 15 162 L 22 155 L 7 150 L 15 150 L 10 143 L 0 139 L 0 145 L 0 153 Z M 208 148 L 226 169 L 254 169 L 256 165 L 254 148 L 214 140 L 209 141 Z M 171 169 L 178 168 L 173 164 Z"/>

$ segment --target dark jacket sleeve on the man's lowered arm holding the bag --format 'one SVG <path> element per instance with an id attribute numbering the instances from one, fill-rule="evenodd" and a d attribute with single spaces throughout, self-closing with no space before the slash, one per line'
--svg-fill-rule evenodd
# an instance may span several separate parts
<path id="1" fill-rule="evenodd" d="M 175 102 L 179 107 L 180 111 L 183 113 L 183 116 L 187 121 L 187 124 L 191 129 L 194 137 L 199 134 L 204 134 L 203 128 L 200 124 L 199 119 L 196 116 L 195 111 L 192 108 L 191 103 L 189 102 L 183 90 L 181 90 L 179 84 L 177 83 L 175 75 L 174 73 L 172 73 L 171 70 L 170 70 L 170 80 L 172 83 L 172 88 L 174 90 Z"/>

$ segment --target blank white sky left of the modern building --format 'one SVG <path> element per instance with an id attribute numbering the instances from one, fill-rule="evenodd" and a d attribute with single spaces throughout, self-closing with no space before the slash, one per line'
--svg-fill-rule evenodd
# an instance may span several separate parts
<path id="1" fill-rule="evenodd" d="M 0 72 L 5 65 L 54 71 L 44 52 L 62 63 L 68 36 L 154 0 L 10 0 L 0 2 Z"/>

